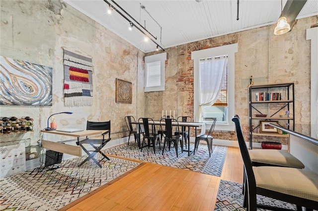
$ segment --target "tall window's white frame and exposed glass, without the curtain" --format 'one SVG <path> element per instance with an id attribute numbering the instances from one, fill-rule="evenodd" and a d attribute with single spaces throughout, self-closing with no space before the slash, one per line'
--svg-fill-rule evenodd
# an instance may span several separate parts
<path id="1" fill-rule="evenodd" d="M 230 118 L 234 115 L 235 108 L 235 53 L 238 52 L 238 44 L 231 44 L 216 48 L 210 48 L 191 53 L 194 63 L 194 118 L 195 121 L 203 121 L 208 124 L 209 117 L 216 117 L 216 130 L 234 131 L 234 124 Z M 224 77 L 218 80 L 221 86 L 218 97 L 213 105 L 202 106 L 203 115 L 200 115 L 200 65 L 202 59 L 217 58 L 220 55 L 227 55 L 228 61 Z M 200 62 L 201 61 L 201 62 Z M 227 99 L 227 100 L 226 100 Z"/>

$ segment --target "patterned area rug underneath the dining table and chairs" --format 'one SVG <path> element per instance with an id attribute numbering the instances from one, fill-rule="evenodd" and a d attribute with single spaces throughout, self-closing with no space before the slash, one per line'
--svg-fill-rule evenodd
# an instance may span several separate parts
<path id="1" fill-rule="evenodd" d="M 190 149 L 194 149 L 194 144 L 190 144 Z M 162 144 L 161 150 L 159 150 L 159 145 L 156 146 L 156 153 L 154 153 L 154 149 L 152 147 L 143 148 L 143 152 L 141 152 L 136 143 L 129 143 L 129 145 L 124 143 L 117 145 L 105 149 L 105 153 L 123 158 L 136 159 L 221 176 L 224 160 L 227 154 L 227 147 L 213 145 L 211 158 L 209 158 L 208 147 L 205 144 L 200 144 L 195 155 L 192 154 L 190 156 L 188 156 L 188 152 L 181 153 L 181 150 L 179 149 L 178 158 L 176 157 L 175 149 L 172 147 L 170 151 L 168 151 L 168 147 L 165 147 L 164 153 L 161 155 Z"/>

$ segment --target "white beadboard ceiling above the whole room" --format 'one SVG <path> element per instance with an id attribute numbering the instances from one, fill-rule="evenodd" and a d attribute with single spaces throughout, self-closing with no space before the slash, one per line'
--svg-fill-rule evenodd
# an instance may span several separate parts
<path id="1" fill-rule="evenodd" d="M 136 27 L 129 31 L 129 22 L 115 10 L 109 15 L 109 6 L 104 0 L 64 1 L 141 51 L 156 50 L 157 45 L 151 41 L 146 43 Z M 153 39 L 162 48 L 275 24 L 281 14 L 281 0 L 239 0 L 239 20 L 237 0 L 115 1 L 137 20 L 134 24 L 145 27 L 146 21 L 146 29 L 157 37 L 157 40 Z M 283 8 L 286 1 L 283 0 Z M 113 2 L 111 4 L 118 8 Z M 141 9 L 141 5 L 149 14 Z M 318 15 L 318 0 L 307 0 L 296 19 L 314 15 Z"/>

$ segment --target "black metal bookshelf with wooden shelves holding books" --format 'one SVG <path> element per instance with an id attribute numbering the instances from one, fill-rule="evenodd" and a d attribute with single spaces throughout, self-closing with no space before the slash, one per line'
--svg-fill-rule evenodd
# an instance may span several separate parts
<path id="1" fill-rule="evenodd" d="M 280 134 L 278 130 L 268 127 L 267 123 L 274 121 L 287 129 L 295 129 L 294 89 L 292 82 L 249 87 L 250 149 L 253 147 L 253 136 L 289 138 L 288 134 Z"/>

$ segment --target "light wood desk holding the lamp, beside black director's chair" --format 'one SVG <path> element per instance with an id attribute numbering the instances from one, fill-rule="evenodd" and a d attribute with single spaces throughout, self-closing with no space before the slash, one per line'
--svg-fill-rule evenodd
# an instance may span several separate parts
<path id="1" fill-rule="evenodd" d="M 48 141 L 43 139 L 43 134 L 53 134 L 53 135 L 63 135 L 63 136 L 71 136 L 76 137 L 78 139 L 78 142 L 80 143 L 80 138 L 86 138 L 86 136 L 95 136 L 102 134 L 103 131 L 100 130 L 84 130 L 74 133 L 68 133 L 68 132 L 60 132 L 56 130 L 41 130 L 42 132 L 42 147 L 48 150 L 53 150 L 60 153 L 69 154 L 72 156 L 78 156 L 81 157 L 81 150 L 82 148 L 80 146 L 74 146 L 74 145 L 68 145 L 64 142 L 66 141 Z"/>

